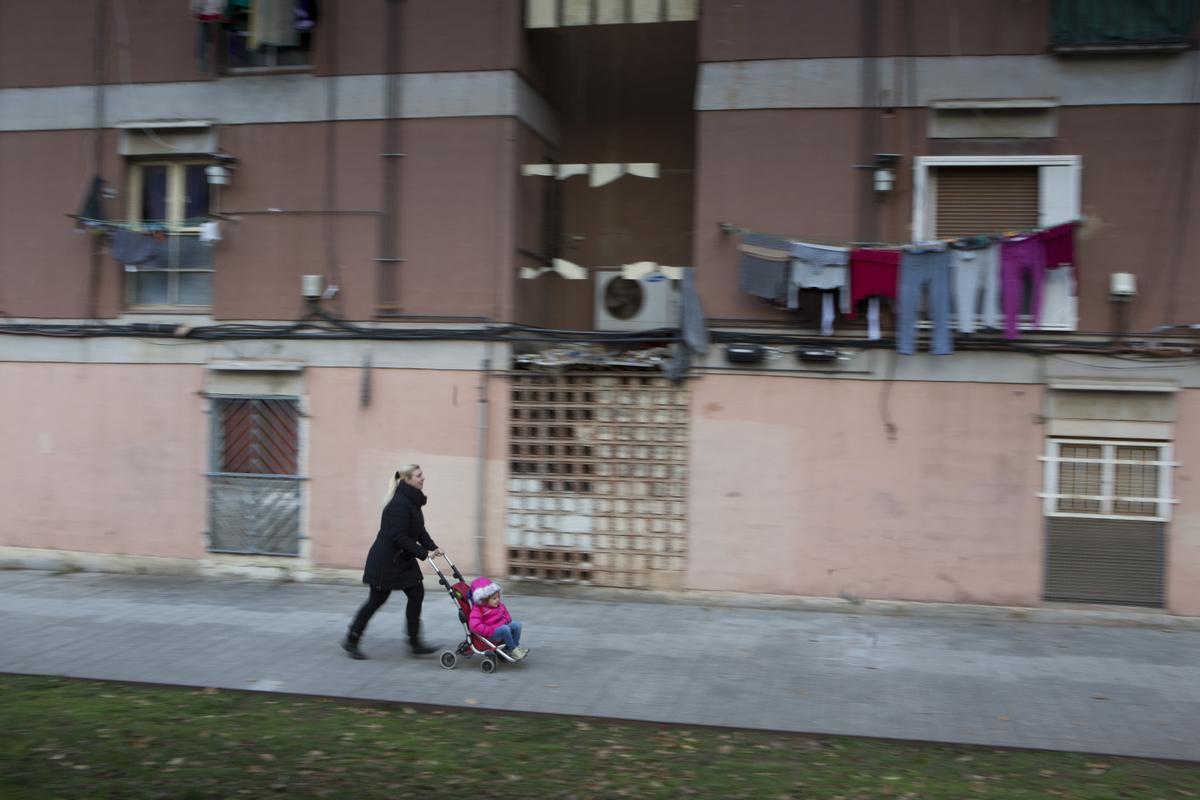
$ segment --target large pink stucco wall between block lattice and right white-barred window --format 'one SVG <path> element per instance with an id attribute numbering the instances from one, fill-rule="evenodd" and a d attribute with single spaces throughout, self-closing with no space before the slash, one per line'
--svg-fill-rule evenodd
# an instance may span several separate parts
<path id="1" fill-rule="evenodd" d="M 692 392 L 689 588 L 1040 602 L 1039 387 L 707 375 Z"/>

